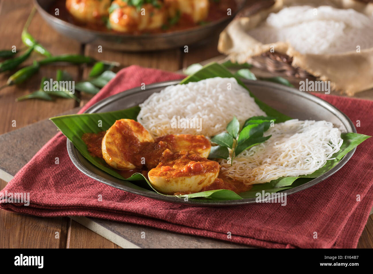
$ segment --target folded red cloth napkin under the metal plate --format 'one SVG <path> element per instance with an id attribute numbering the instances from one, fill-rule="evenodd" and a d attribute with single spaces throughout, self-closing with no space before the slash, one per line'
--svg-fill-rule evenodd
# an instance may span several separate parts
<path id="1" fill-rule="evenodd" d="M 121 70 L 82 111 L 141 83 L 181 78 L 131 66 Z M 360 120 L 358 133 L 373 135 L 373 102 L 333 95 L 319 97 L 352 121 Z M 373 206 L 372 144 L 373 138 L 369 138 L 358 146 L 335 175 L 289 195 L 286 206 L 268 203 L 209 208 L 152 200 L 97 182 L 75 168 L 66 150 L 66 137 L 59 133 L 1 191 L 30 192 L 29 206 L 2 201 L 0 207 L 44 217 L 98 217 L 267 248 L 355 248 Z M 59 157 L 58 165 L 55 157 Z M 99 194 L 102 201 L 98 201 Z M 229 232 L 231 238 L 227 237 Z"/>

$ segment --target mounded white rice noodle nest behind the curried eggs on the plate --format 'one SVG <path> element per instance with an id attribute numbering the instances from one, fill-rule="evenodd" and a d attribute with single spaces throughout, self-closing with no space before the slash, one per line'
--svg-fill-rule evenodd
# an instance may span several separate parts
<path id="1" fill-rule="evenodd" d="M 139 121 L 153 136 L 198 134 L 207 137 L 225 131 L 236 116 L 241 125 L 247 118 L 266 115 L 235 78 L 215 77 L 199 82 L 168 86 L 140 104 Z M 174 118 L 174 120 L 173 120 Z M 172 121 L 188 119 L 188 128 Z M 201 122 L 198 128 L 197 120 Z M 201 120 L 200 120 L 201 119 Z"/>

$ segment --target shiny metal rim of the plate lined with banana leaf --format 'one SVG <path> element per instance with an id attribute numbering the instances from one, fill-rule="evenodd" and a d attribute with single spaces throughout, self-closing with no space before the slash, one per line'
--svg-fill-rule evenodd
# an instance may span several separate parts
<path id="1" fill-rule="evenodd" d="M 166 86 L 176 85 L 178 83 L 179 83 L 179 81 L 167 81 L 167 82 L 155 83 L 155 84 L 148 85 L 146 90 L 149 91 L 149 90 L 152 90 L 152 89 L 164 88 Z M 341 112 L 335 106 L 331 105 L 330 103 L 328 103 L 328 102 L 326 102 L 326 101 L 324 101 L 324 100 L 322 100 L 322 99 L 320 99 L 320 98 L 318 98 L 314 95 L 311 95 L 310 93 L 300 92 L 299 90 L 296 90 L 292 87 L 283 86 L 283 85 L 280 85 L 280 84 L 277 84 L 277 83 L 270 83 L 270 82 L 264 82 L 264 81 L 259 81 L 259 80 L 257 80 L 257 81 L 244 80 L 244 83 L 246 85 L 250 85 L 250 86 L 264 86 L 266 88 L 276 89 L 276 92 L 287 93 L 287 95 L 289 95 L 289 93 L 290 93 L 290 96 L 291 95 L 298 95 L 298 96 L 301 96 L 308 101 L 312 101 L 314 103 L 317 103 L 317 105 L 320 105 L 321 107 L 327 109 L 327 111 L 336 115 L 336 117 L 338 117 L 338 119 L 342 122 L 342 124 L 347 128 L 348 132 L 356 133 L 356 128 L 355 128 L 354 124 L 352 123 L 352 121 L 350 120 L 350 118 L 348 118 L 343 112 Z M 85 111 L 85 113 L 102 112 L 102 111 L 100 111 L 100 109 L 102 109 L 103 107 L 106 107 L 106 108 L 110 107 L 110 104 L 112 104 L 113 102 L 115 102 L 119 99 L 125 98 L 126 96 L 134 95 L 136 93 L 140 93 L 142 91 L 144 91 L 144 90 L 142 90 L 141 87 L 136 87 L 136 88 L 133 88 L 133 89 L 129 89 L 129 90 L 120 92 L 116 95 L 110 96 L 106 99 L 101 100 L 100 102 L 95 103 L 93 106 L 91 106 L 89 109 L 87 109 L 87 111 Z M 114 110 L 117 110 L 117 109 L 114 109 Z M 247 198 L 247 199 L 242 199 L 242 200 L 227 200 L 227 201 L 220 201 L 220 200 L 219 201 L 214 201 L 214 200 L 203 200 L 203 199 L 189 199 L 188 201 L 184 201 L 183 198 L 163 196 L 163 195 L 158 194 L 156 192 L 149 192 L 149 191 L 134 189 L 134 188 L 131 188 L 131 187 L 128 187 L 128 186 L 124 186 L 124 185 L 122 185 L 118 182 L 114 182 L 110 179 L 103 178 L 102 176 L 97 175 L 96 173 L 90 171 L 87 168 L 87 166 L 85 166 L 82 163 L 82 160 L 79 159 L 79 156 L 81 158 L 83 158 L 84 160 L 85 160 L 85 158 L 79 153 L 79 151 L 74 147 L 74 145 L 72 144 L 72 142 L 70 140 L 67 140 L 67 149 L 68 149 L 70 159 L 72 160 L 74 165 L 81 172 L 83 172 L 85 175 L 88 175 L 89 177 L 91 177 L 91 178 L 93 178 L 97 181 L 100 181 L 104 184 L 110 185 L 112 187 L 119 188 L 119 189 L 122 189 L 122 190 L 127 191 L 127 192 L 131 192 L 131 193 L 134 193 L 134 194 L 142 195 L 142 196 L 145 196 L 145 197 L 148 197 L 148 198 L 153 198 L 153 199 L 162 200 L 162 201 L 168 201 L 168 202 L 171 202 L 171 203 L 188 204 L 188 205 L 192 205 L 192 206 L 236 206 L 236 205 L 242 205 L 242 204 L 257 203 L 256 198 Z M 313 180 L 311 180 L 311 181 L 309 181 L 309 182 L 307 182 L 303 185 L 300 185 L 298 187 L 294 187 L 294 188 L 291 188 L 291 189 L 286 189 L 286 195 L 290 195 L 290 194 L 296 193 L 298 191 L 301 191 L 301 190 L 307 189 L 309 187 L 312 187 L 313 185 L 316 185 L 319 182 L 328 178 L 329 176 L 333 175 L 335 172 L 337 172 L 339 169 L 341 169 L 342 166 L 344 166 L 345 163 L 347 163 L 348 160 L 350 160 L 350 158 L 352 157 L 352 155 L 355 152 L 355 149 L 356 148 L 354 148 L 349 153 L 347 153 L 342 158 L 342 160 L 338 162 L 338 164 L 335 167 L 333 167 L 332 169 L 330 169 L 328 172 L 324 173 L 323 175 L 321 175 L 317 178 L 314 178 Z M 91 167 L 96 168 L 94 165 L 92 165 L 90 162 L 88 162 L 88 160 L 86 160 L 86 162 L 87 162 L 86 165 L 91 165 Z M 105 174 L 107 174 L 107 173 L 105 173 Z M 119 180 L 119 179 L 117 179 L 114 176 L 111 176 L 109 174 L 107 174 L 107 177 L 112 177 L 115 180 Z M 270 199 L 270 200 L 273 200 L 273 199 Z M 260 201 L 263 202 L 264 197 L 262 197 L 262 199 Z"/>

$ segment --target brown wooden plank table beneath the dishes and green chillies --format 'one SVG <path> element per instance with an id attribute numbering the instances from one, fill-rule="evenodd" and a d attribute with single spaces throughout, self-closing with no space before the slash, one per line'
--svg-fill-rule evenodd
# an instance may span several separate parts
<path id="1" fill-rule="evenodd" d="M 10 49 L 15 45 L 23 47 L 21 31 L 32 9 L 31 0 L 0 0 L 0 49 Z M 113 52 L 103 48 L 82 45 L 55 32 L 40 15 L 36 14 L 29 27 L 29 32 L 52 54 L 85 54 L 98 60 L 117 61 L 126 67 L 137 64 L 143 67 L 160 68 L 177 71 L 193 63 L 213 58 L 219 55 L 216 50 L 217 37 L 201 46 L 190 46 L 189 52 L 182 49 L 147 53 Z M 36 56 L 36 55 L 35 55 Z M 26 64 L 31 64 L 28 61 Z M 55 102 L 27 100 L 16 102 L 15 99 L 38 89 L 41 77 L 48 79 L 55 76 L 59 66 L 47 66 L 20 86 L 7 87 L 0 91 L 0 134 L 24 127 L 34 122 L 53 117 L 77 106 L 84 105 L 92 96 L 77 93 L 80 103 L 70 99 L 57 99 Z M 85 66 L 63 67 L 75 81 L 85 79 L 89 68 Z M 256 71 L 253 70 L 255 73 Z M 11 73 L 0 74 L 0 86 L 6 83 Z M 265 73 L 264 73 L 265 74 Z M 298 80 L 299 81 L 299 80 Z M 359 98 L 373 99 L 373 92 L 362 92 Z M 16 127 L 12 121 L 16 120 Z M 26 148 L 25 148 L 26 149 Z M 0 189 L 6 185 L 0 180 Z M 60 237 L 54 237 L 59 232 Z M 119 246 L 102 236 L 76 223 L 68 217 L 40 218 L 25 216 L 9 211 L 0 211 L 0 248 L 118 248 Z M 361 235 L 359 248 L 373 247 L 373 217 L 369 217 Z"/>

